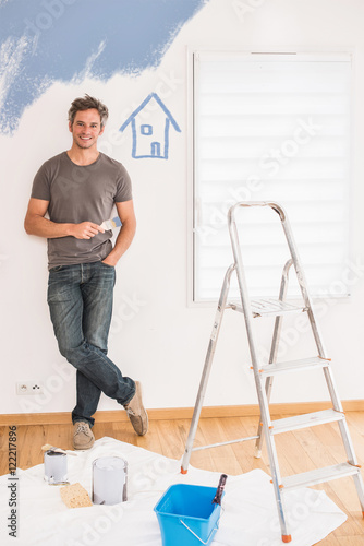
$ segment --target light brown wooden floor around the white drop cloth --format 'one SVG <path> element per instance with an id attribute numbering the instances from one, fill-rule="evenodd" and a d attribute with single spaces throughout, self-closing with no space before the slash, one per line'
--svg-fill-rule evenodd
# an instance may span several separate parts
<path id="1" fill-rule="evenodd" d="M 286 416 L 284 416 L 286 417 Z M 275 416 L 279 418 L 279 416 Z M 347 413 L 348 424 L 360 464 L 364 465 L 364 413 Z M 196 446 L 220 442 L 256 434 L 257 417 L 201 419 Z M 137 437 L 129 423 L 96 423 L 96 438 L 109 436 L 162 455 L 181 459 L 190 420 L 153 420 L 149 432 Z M 0 427 L 0 474 L 8 474 L 8 427 Z M 45 443 L 72 449 L 72 426 L 33 425 L 17 427 L 17 466 L 28 468 L 43 463 L 40 447 Z M 345 461 L 337 424 L 296 430 L 276 437 L 282 475 L 306 472 Z M 191 464 L 198 468 L 242 474 L 253 468 L 269 473 L 266 450 L 254 459 L 254 442 L 236 443 L 193 453 Z M 364 546 L 364 521 L 352 478 L 341 478 L 317 486 L 348 514 L 348 520 L 320 546 Z"/>

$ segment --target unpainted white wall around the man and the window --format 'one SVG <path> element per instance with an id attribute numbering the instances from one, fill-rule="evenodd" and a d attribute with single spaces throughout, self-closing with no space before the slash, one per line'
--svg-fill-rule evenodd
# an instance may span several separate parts
<path id="1" fill-rule="evenodd" d="M 37 168 L 70 146 L 66 110 L 71 100 L 84 93 L 99 96 L 111 110 L 100 147 L 129 169 L 138 221 L 135 240 L 117 270 L 109 355 L 123 373 L 143 382 L 147 407 L 194 404 L 215 308 L 187 305 L 191 277 L 187 47 L 354 50 L 352 241 L 353 260 L 364 264 L 363 17 L 361 0 L 210 0 L 181 29 L 158 69 L 134 78 L 116 75 L 109 82 L 54 83 L 26 110 L 14 135 L 0 138 L 0 413 L 66 412 L 75 402 L 74 370 L 58 353 L 48 316 L 46 241 L 24 233 L 23 217 Z M 168 161 L 133 159 L 130 129 L 119 133 L 118 142 L 114 134 L 153 91 L 165 100 L 182 132 L 171 130 Z M 150 116 L 154 119 L 153 112 Z M 320 325 L 343 400 L 363 397 L 363 273 L 360 268 L 353 274 L 350 299 L 332 300 L 330 306 L 319 304 Z M 241 316 L 227 312 L 207 405 L 256 402 L 243 327 Z M 262 323 L 260 327 L 263 340 L 268 327 Z M 287 333 L 294 335 L 293 330 Z M 311 336 L 304 335 L 301 342 L 293 341 L 291 347 L 291 339 L 286 343 L 286 359 L 300 356 L 301 349 L 306 351 L 311 344 Z M 16 381 L 33 379 L 45 384 L 46 395 L 38 400 L 17 396 Z M 274 396 L 279 402 L 326 399 L 319 375 L 277 381 Z M 101 397 L 99 410 L 117 407 L 114 401 Z"/>

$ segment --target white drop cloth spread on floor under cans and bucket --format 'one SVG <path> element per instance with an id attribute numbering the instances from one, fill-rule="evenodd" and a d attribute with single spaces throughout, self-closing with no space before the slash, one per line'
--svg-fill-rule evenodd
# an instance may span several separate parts
<path id="1" fill-rule="evenodd" d="M 92 463 L 98 456 L 128 461 L 129 501 L 116 506 L 69 509 L 60 486 L 44 480 L 44 465 L 19 470 L 17 538 L 8 535 L 10 476 L 0 476 L 0 544 L 2 546 L 161 546 L 154 507 L 175 483 L 217 486 L 220 473 L 190 466 L 113 438 L 101 438 L 92 450 L 68 456 L 69 480 L 92 496 Z M 291 546 L 312 546 L 341 525 L 347 515 L 324 491 L 300 489 L 284 496 Z M 281 546 L 270 477 L 260 470 L 229 476 L 220 527 L 211 546 Z"/>

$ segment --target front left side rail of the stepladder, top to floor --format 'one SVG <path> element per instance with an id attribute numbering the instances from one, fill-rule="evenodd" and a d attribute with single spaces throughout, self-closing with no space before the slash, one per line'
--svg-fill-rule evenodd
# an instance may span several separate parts
<path id="1" fill-rule="evenodd" d="M 240 250 L 240 245 L 239 245 L 239 235 L 238 235 L 238 229 L 236 229 L 236 223 L 234 219 L 234 211 L 236 210 L 236 206 L 239 206 L 239 205 L 240 205 L 240 203 L 236 203 L 235 205 L 231 206 L 229 210 L 229 213 L 228 213 L 229 233 L 230 233 L 231 246 L 232 246 L 232 251 L 233 251 L 234 261 L 235 261 L 239 290 L 240 290 L 241 302 L 242 302 L 242 308 L 243 308 L 243 313 L 244 313 L 244 319 L 245 319 L 247 341 L 248 341 L 248 347 L 250 347 L 250 353 L 251 353 L 251 358 L 252 358 L 257 396 L 258 396 L 258 401 L 259 401 L 263 430 L 264 430 L 265 436 L 267 438 L 269 438 L 269 441 L 267 441 L 267 451 L 268 451 L 268 458 L 269 458 L 269 463 L 270 463 L 271 479 L 272 479 L 272 484 L 274 484 L 279 523 L 280 523 L 282 536 L 289 536 L 287 520 L 286 520 L 286 515 L 284 515 L 283 498 L 282 498 L 282 494 L 281 494 L 281 489 L 280 489 L 280 486 L 282 485 L 282 478 L 281 478 L 280 471 L 279 471 L 276 443 L 275 443 L 272 436 L 270 435 L 269 427 L 271 426 L 271 420 L 270 420 L 270 413 L 269 413 L 269 404 L 267 401 L 265 389 L 263 388 L 263 384 L 262 384 L 262 379 L 259 377 L 259 359 L 258 359 L 258 356 L 257 356 L 257 353 L 255 349 L 256 342 L 255 342 L 255 336 L 254 336 L 254 331 L 253 331 L 253 313 L 252 313 L 251 301 L 250 301 L 250 298 L 247 296 L 248 293 L 247 293 L 245 275 L 243 273 L 244 269 L 243 269 L 243 261 L 242 261 L 242 256 L 241 256 L 241 250 Z"/>

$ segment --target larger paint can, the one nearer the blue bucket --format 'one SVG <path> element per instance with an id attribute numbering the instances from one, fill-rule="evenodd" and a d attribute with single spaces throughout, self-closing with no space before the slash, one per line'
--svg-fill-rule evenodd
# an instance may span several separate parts
<path id="1" fill-rule="evenodd" d="M 93 462 L 94 505 L 128 500 L 128 462 L 121 456 L 100 456 Z"/>

